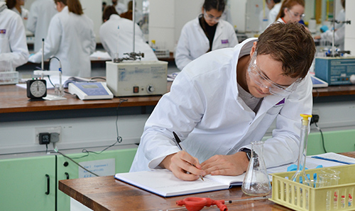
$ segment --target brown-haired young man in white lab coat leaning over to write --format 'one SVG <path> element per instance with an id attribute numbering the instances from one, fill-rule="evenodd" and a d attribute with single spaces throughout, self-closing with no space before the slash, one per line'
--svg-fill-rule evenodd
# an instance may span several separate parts
<path id="1" fill-rule="evenodd" d="M 300 114 L 312 112 L 307 73 L 314 56 L 303 25 L 275 23 L 259 38 L 190 62 L 147 120 L 131 171 L 165 168 L 187 181 L 239 175 L 249 164 L 250 143 L 275 119 L 264 144 L 266 166 L 296 161 Z M 175 146 L 173 131 L 186 151 Z"/>

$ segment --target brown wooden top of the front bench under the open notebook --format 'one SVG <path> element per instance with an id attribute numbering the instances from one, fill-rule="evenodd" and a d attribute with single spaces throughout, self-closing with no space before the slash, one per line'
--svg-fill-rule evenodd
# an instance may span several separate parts
<path id="1" fill-rule="evenodd" d="M 355 152 L 341 153 L 355 157 Z M 101 176 L 96 178 L 77 178 L 59 181 L 59 190 L 95 211 L 102 210 L 168 210 L 176 209 L 176 200 L 187 197 L 212 198 L 213 200 L 239 200 L 251 198 L 241 191 L 241 187 L 229 190 L 218 190 L 209 193 L 182 195 L 172 198 L 163 198 L 146 190 L 136 188 L 114 176 Z M 247 201 L 227 204 L 229 210 L 254 210 L 254 211 L 285 211 L 287 207 L 273 203 L 271 200 Z M 210 207 L 204 210 L 219 210 Z"/>

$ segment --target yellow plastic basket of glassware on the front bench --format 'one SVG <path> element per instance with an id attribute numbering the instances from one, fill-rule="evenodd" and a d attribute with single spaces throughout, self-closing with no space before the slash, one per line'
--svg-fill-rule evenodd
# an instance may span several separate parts
<path id="1" fill-rule="evenodd" d="M 352 200 L 355 190 L 355 164 L 327 167 L 327 169 L 340 171 L 337 186 L 314 188 L 291 181 L 295 171 L 271 173 L 273 192 L 270 200 L 293 210 L 355 210 Z M 317 179 L 320 169 L 310 169 L 305 172 L 311 179 Z"/>

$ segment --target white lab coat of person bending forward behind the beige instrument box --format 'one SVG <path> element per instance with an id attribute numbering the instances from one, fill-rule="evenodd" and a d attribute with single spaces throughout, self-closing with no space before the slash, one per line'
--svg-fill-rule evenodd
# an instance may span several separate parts
<path id="1" fill-rule="evenodd" d="M 157 61 L 155 53 L 144 40 L 141 28 L 137 24 L 134 25 L 136 27 L 134 51 L 144 53 L 142 60 Z M 119 57 L 127 57 L 124 53 L 133 51 L 133 21 L 112 14 L 109 20 L 101 25 L 99 33 L 102 46 L 111 57 L 114 57 L 116 52 L 119 52 Z"/>

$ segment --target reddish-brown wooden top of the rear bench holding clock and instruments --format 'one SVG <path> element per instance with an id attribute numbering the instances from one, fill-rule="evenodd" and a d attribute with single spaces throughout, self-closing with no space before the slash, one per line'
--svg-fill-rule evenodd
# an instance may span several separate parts
<path id="1" fill-rule="evenodd" d="M 168 82 L 168 91 L 171 82 Z M 30 101 L 26 89 L 16 85 L 0 86 L 0 113 L 33 112 L 44 110 L 72 110 L 83 108 L 116 108 L 120 99 L 128 99 L 121 107 L 156 105 L 161 96 L 133 96 L 113 98 L 110 100 L 81 101 L 76 96 L 65 93 L 65 101 Z M 48 93 L 54 93 L 49 89 Z M 355 86 L 329 86 L 313 89 L 313 97 L 354 96 Z"/>

